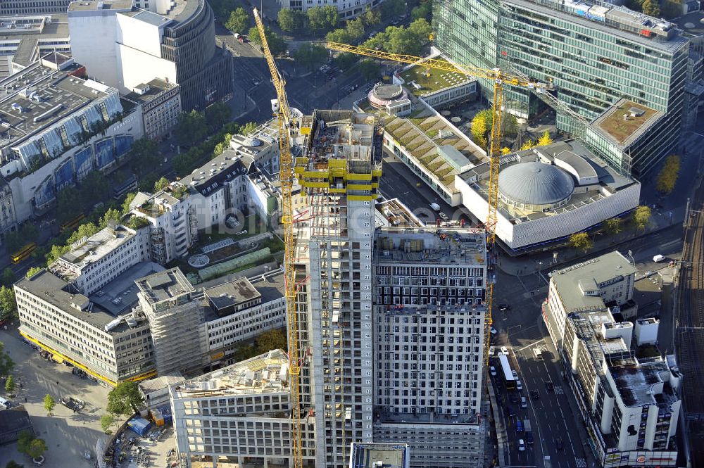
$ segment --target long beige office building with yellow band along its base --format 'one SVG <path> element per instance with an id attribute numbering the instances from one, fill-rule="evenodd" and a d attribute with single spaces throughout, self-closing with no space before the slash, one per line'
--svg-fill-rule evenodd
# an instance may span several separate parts
<path id="1" fill-rule="evenodd" d="M 15 283 L 20 334 L 111 386 L 153 377 L 149 322 L 132 308 L 134 280 L 157 270 L 155 263 L 133 265 L 95 293 L 82 293 L 56 272 L 23 277 Z"/>

